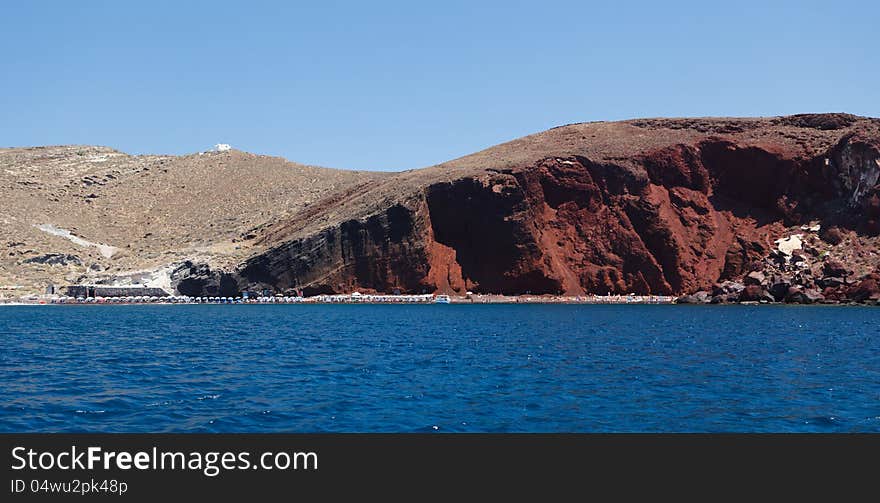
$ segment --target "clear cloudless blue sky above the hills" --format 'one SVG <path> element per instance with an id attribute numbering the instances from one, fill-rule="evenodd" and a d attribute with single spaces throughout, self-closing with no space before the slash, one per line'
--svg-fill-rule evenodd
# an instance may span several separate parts
<path id="1" fill-rule="evenodd" d="M 878 20 L 876 0 L 7 1 L 0 146 L 400 170 L 572 122 L 876 117 Z"/>

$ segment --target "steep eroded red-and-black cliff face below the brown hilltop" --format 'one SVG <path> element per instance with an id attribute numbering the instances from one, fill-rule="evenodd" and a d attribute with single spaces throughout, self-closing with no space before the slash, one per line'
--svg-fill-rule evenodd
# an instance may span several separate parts
<path id="1" fill-rule="evenodd" d="M 844 131 L 812 151 L 707 134 L 614 159 L 486 166 L 271 247 L 233 276 L 239 289 L 306 294 L 711 289 L 753 270 L 792 226 L 877 234 L 878 139 L 807 122 Z"/>

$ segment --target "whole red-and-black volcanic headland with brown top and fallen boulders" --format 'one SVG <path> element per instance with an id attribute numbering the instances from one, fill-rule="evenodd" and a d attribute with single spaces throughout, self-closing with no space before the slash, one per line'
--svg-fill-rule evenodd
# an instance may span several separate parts
<path id="1" fill-rule="evenodd" d="M 307 294 L 715 289 L 758 300 L 776 288 L 776 300 L 871 298 L 878 175 L 877 119 L 575 124 L 323 201 L 260 229 L 262 251 L 212 274 L 238 290 Z M 806 234 L 804 257 L 780 259 L 774 242 L 794 233 Z M 829 259 L 852 270 L 823 288 Z M 766 277 L 746 293 L 719 286 L 756 271 Z M 220 283 L 191 268 L 178 279 L 189 293 Z"/>

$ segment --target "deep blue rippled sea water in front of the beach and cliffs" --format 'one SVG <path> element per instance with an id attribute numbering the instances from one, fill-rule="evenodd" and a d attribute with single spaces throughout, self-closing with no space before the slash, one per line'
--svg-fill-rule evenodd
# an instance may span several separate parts
<path id="1" fill-rule="evenodd" d="M 880 309 L 0 307 L 4 432 L 880 432 Z"/>

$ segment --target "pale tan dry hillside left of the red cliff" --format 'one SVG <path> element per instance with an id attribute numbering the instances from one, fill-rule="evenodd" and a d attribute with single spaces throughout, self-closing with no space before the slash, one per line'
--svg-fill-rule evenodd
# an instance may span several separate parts
<path id="1" fill-rule="evenodd" d="M 234 268 L 257 229 L 381 173 L 230 150 L 131 156 L 106 147 L 0 149 L 0 287 L 151 283 L 194 260 Z M 3 292 L 0 291 L 0 294 Z"/>

